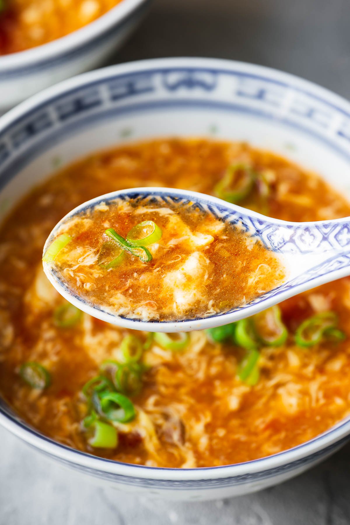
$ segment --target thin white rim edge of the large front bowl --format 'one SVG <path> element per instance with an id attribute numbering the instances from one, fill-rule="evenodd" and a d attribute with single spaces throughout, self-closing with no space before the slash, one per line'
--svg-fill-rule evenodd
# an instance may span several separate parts
<path id="1" fill-rule="evenodd" d="M 129 1 L 129 0 L 123 0 Z M 143 2 L 144 0 L 134 0 L 135 2 Z M 266 76 L 267 78 L 274 78 L 283 83 L 292 84 L 292 87 L 302 91 L 307 91 L 309 95 L 314 98 L 322 97 L 334 104 L 336 107 L 341 107 L 347 115 L 350 116 L 350 103 L 343 97 L 336 95 L 331 90 L 323 88 L 309 80 L 304 80 L 298 76 L 291 75 L 277 69 L 268 68 L 264 66 L 250 64 L 248 62 L 240 62 L 235 60 L 215 59 L 215 58 L 196 58 L 196 57 L 174 57 L 174 58 L 160 58 L 147 59 L 134 62 L 126 62 L 125 64 L 113 65 L 107 68 L 102 68 L 90 71 L 68 80 L 64 80 L 55 86 L 45 89 L 30 97 L 26 101 L 20 103 L 17 107 L 5 113 L 0 118 L 0 132 L 7 128 L 8 125 L 16 121 L 20 117 L 25 117 L 26 114 L 36 108 L 38 104 L 49 102 L 50 99 L 62 95 L 63 93 L 73 89 L 83 87 L 91 81 L 102 80 L 108 78 L 111 74 L 131 74 L 137 71 L 145 71 L 159 68 L 200 68 L 208 69 L 232 70 L 239 69 L 244 72 L 254 73 L 256 75 Z M 199 479 L 217 479 L 226 477 L 235 477 L 249 472 L 260 472 L 263 470 L 270 470 L 281 467 L 286 464 L 293 464 L 295 461 L 312 456 L 317 451 L 320 451 L 328 446 L 336 446 L 336 443 L 344 439 L 350 433 L 350 421 L 343 419 L 341 422 L 326 430 L 326 432 L 316 436 L 315 438 L 298 445 L 296 447 L 281 451 L 280 453 L 259 458 L 245 463 L 223 465 L 218 467 L 201 467 L 193 469 L 174 469 L 162 467 L 147 467 L 143 465 L 125 464 L 118 461 L 112 461 L 97 456 L 92 456 L 87 453 L 82 453 L 79 450 L 72 449 L 66 445 L 62 445 L 54 440 L 40 434 L 37 430 L 31 428 L 29 425 L 19 422 L 16 417 L 10 417 L 0 409 L 0 423 L 17 435 L 25 442 L 42 450 L 50 456 L 55 456 L 68 461 L 68 463 L 80 465 L 103 471 L 105 473 L 131 476 L 143 479 L 159 479 L 159 480 L 199 480 Z M 79 457 L 79 461 L 77 458 Z M 292 469 L 292 467 L 291 467 Z M 144 474 L 144 475 L 142 475 Z"/>

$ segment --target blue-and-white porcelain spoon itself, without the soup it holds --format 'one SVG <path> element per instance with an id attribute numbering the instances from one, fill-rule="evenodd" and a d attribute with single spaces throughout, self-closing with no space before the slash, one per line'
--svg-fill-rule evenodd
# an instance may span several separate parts
<path id="1" fill-rule="evenodd" d="M 73 293 L 62 281 L 51 264 L 44 262 L 44 271 L 67 301 L 80 310 L 102 321 L 123 328 L 148 332 L 189 332 L 229 324 L 265 310 L 305 290 L 334 281 L 350 274 L 350 217 L 341 219 L 292 223 L 266 217 L 236 204 L 203 193 L 174 188 L 129 188 L 100 195 L 84 202 L 63 217 L 50 233 L 44 253 L 57 236 L 59 229 L 70 218 L 93 211 L 99 204 L 109 205 L 121 199 L 136 200 L 140 205 L 157 203 L 169 206 L 193 206 L 227 224 L 235 225 L 241 232 L 260 240 L 263 246 L 273 251 L 285 270 L 283 282 L 271 291 L 225 313 L 189 318 L 181 321 L 142 321 L 116 315 L 112 310 L 84 300 Z"/>

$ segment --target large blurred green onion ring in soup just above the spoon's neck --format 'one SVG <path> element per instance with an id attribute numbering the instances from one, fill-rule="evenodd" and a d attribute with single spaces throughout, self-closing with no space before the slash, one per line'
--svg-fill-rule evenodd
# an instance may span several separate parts
<path id="1" fill-rule="evenodd" d="M 248 164 L 234 164 L 216 184 L 214 193 L 224 201 L 236 203 L 249 195 L 255 180 L 256 173 Z"/>

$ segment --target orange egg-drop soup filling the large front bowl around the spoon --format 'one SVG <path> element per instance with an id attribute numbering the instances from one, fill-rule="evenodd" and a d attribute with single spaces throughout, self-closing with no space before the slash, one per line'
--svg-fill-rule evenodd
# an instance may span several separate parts
<path id="1" fill-rule="evenodd" d="M 248 163 L 254 178 L 240 205 L 287 220 L 349 215 L 350 207 L 320 177 L 247 144 L 161 140 L 94 154 L 34 188 L 0 231 L 0 390 L 26 421 L 60 443 L 128 463 L 204 467 L 278 453 L 324 432 L 350 410 L 350 280 L 342 279 L 280 304 L 287 339 L 258 343 L 258 376 L 240 379 L 247 351 L 232 338 L 213 342 L 189 334 L 174 351 L 146 333 L 119 329 L 86 314 L 57 323 L 65 302 L 43 274 L 41 257 L 52 227 L 73 207 L 130 186 L 215 193 L 229 166 Z M 346 339 L 295 342 L 300 324 L 319 312 L 338 316 Z M 89 404 L 83 385 L 105 360 L 123 362 L 122 341 L 145 344 L 142 387 L 130 396 L 135 417 L 114 423 L 119 444 L 97 448 L 82 426 Z M 20 367 L 36 362 L 50 385 L 32 388 Z M 113 372 L 102 366 L 105 374 Z M 115 370 L 114 370 L 115 371 Z M 253 383 L 253 384 L 249 384 Z"/>

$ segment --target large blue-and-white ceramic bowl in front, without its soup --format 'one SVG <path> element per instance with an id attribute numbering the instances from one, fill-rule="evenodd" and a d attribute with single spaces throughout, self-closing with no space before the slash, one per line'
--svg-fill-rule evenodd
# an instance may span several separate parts
<path id="1" fill-rule="evenodd" d="M 62 82 L 0 119 L 1 213 L 57 164 L 116 143 L 169 135 L 246 140 L 321 173 L 343 193 L 350 187 L 350 104 L 344 99 L 250 64 L 148 60 Z M 277 484 L 332 454 L 350 433 L 346 420 L 267 458 L 224 467 L 167 469 L 116 463 L 57 444 L 1 400 L 0 423 L 99 483 L 188 500 L 229 497 Z"/>

